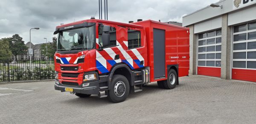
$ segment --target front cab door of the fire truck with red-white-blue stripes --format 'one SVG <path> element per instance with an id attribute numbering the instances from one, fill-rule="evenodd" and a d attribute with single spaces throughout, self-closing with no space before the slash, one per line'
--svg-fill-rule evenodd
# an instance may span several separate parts
<path id="1" fill-rule="evenodd" d="M 104 24 L 108 25 L 108 24 Z M 110 34 L 110 45 L 103 48 L 102 51 L 96 50 L 96 68 L 99 70 L 99 73 L 107 73 L 111 70 L 112 66 L 116 63 L 120 63 L 120 49 L 119 43 L 117 42 L 117 26 L 115 25 L 108 25 L 111 26 L 111 31 L 106 32 Z M 102 46 L 102 30 L 103 25 L 98 26 L 98 42 L 99 47 Z"/>

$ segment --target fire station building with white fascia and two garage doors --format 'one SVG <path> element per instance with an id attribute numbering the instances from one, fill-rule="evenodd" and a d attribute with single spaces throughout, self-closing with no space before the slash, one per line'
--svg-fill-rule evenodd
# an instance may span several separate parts
<path id="1" fill-rule="evenodd" d="M 183 17 L 192 75 L 256 82 L 256 0 L 220 0 Z"/>

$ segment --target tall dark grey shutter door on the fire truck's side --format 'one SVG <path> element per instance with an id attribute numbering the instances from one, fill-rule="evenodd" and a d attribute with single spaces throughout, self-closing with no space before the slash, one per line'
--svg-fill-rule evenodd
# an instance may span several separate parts
<path id="1" fill-rule="evenodd" d="M 165 77 L 165 30 L 153 29 L 154 78 Z"/>

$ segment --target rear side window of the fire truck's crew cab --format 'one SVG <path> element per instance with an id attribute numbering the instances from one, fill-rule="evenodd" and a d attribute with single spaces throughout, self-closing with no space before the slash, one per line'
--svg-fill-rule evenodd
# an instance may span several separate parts
<path id="1" fill-rule="evenodd" d="M 140 46 L 140 31 L 128 29 L 128 49 L 134 49 Z"/>

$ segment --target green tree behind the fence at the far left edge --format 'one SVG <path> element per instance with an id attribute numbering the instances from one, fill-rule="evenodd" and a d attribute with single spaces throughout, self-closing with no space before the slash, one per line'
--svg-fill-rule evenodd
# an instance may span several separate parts
<path id="1" fill-rule="evenodd" d="M 9 38 L 0 40 L 0 60 L 12 58 L 12 52 L 9 49 Z"/>

